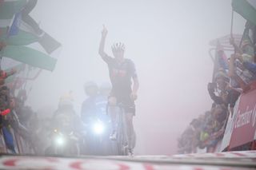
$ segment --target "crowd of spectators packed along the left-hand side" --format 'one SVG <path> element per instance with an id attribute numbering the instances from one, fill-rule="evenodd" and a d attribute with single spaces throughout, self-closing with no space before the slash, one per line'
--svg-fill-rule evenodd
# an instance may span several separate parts
<path id="1" fill-rule="evenodd" d="M 4 44 L 0 43 L 0 51 Z M 31 149 L 36 143 L 37 114 L 25 105 L 26 89 L 15 74 L 21 70 L 0 69 L 0 152 L 21 152 L 17 137 L 22 137 Z M 9 80 L 8 80 L 9 77 Z"/>

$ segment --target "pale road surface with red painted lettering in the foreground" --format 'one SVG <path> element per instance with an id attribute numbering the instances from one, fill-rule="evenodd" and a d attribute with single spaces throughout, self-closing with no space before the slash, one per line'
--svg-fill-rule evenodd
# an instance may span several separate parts
<path id="1" fill-rule="evenodd" d="M 0 169 L 119 169 L 119 170 L 230 170 L 256 169 L 256 151 L 175 156 L 10 156 L 0 157 Z"/>

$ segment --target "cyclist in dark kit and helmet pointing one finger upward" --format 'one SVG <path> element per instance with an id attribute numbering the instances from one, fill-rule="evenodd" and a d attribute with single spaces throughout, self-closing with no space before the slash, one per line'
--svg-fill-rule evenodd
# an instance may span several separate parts
<path id="1" fill-rule="evenodd" d="M 112 90 L 109 97 L 109 113 L 112 121 L 113 132 L 111 140 L 117 137 L 117 105 L 122 104 L 126 119 L 126 134 L 128 142 L 128 152 L 133 155 L 132 140 L 134 137 L 133 117 L 135 115 L 134 100 L 137 99 L 138 76 L 134 62 L 124 57 L 125 45 L 121 42 L 112 45 L 114 57 L 110 57 L 104 51 L 107 30 L 105 26 L 102 30 L 102 39 L 99 45 L 99 55 L 106 62 L 109 68 Z M 133 80 L 133 88 L 131 88 Z"/>

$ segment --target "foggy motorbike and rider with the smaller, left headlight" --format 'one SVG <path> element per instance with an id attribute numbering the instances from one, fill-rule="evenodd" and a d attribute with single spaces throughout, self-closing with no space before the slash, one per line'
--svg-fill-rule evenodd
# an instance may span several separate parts
<path id="1" fill-rule="evenodd" d="M 74 111 L 71 92 L 60 97 L 58 109 L 50 124 L 50 146 L 46 148 L 46 154 L 79 155 L 79 138 L 83 124 Z"/>

